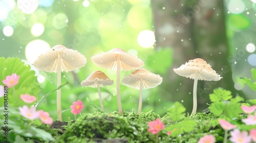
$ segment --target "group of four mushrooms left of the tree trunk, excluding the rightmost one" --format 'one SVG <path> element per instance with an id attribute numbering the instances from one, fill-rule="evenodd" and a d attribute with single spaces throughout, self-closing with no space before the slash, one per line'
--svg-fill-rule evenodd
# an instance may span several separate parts
<path id="1" fill-rule="evenodd" d="M 122 49 L 112 49 L 106 53 L 101 53 L 91 57 L 92 61 L 102 68 L 116 70 L 116 88 L 117 88 L 117 105 L 119 113 L 123 113 L 120 97 L 120 71 L 136 69 L 131 75 L 122 80 L 122 84 L 140 90 L 138 114 L 142 108 L 142 90 L 154 88 L 162 83 L 162 78 L 150 71 L 140 68 L 144 62 L 136 56 L 130 55 Z M 57 87 L 61 83 L 61 72 L 73 71 L 87 63 L 86 57 L 78 51 L 68 49 L 63 45 L 56 45 L 45 54 L 40 55 L 33 65 L 38 70 L 49 73 L 57 73 Z M 109 79 L 102 71 L 94 71 L 86 80 L 81 82 L 81 86 L 90 86 L 98 89 L 101 110 L 104 111 L 100 87 L 112 85 L 113 80 Z M 57 90 L 57 120 L 62 121 L 60 89 Z"/>

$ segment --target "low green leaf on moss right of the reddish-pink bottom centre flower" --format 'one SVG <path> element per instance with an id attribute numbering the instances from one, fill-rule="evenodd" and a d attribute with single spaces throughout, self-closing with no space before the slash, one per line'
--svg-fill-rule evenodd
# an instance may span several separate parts
<path id="1" fill-rule="evenodd" d="M 184 121 L 181 121 L 180 123 L 170 125 L 165 130 L 166 131 L 172 131 L 172 134 L 170 134 L 170 136 L 175 137 L 179 134 L 183 134 L 183 133 L 193 131 L 196 125 L 197 125 L 196 121 L 184 120 Z"/>

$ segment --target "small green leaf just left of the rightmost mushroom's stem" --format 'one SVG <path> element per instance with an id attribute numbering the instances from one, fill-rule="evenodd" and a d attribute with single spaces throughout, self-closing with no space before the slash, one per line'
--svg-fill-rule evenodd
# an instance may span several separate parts
<path id="1" fill-rule="evenodd" d="M 181 116 L 185 115 L 186 108 L 179 102 L 175 102 L 168 110 L 167 114 L 176 122 L 181 120 Z"/>

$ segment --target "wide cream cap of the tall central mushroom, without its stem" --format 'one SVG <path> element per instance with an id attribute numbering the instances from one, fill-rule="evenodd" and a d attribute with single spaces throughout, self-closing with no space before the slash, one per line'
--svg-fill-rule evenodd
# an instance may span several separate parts
<path id="1" fill-rule="evenodd" d="M 144 64 L 141 59 L 130 55 L 119 48 L 94 55 L 91 59 L 96 65 L 112 70 L 116 70 L 118 61 L 120 61 L 120 70 L 124 71 L 141 67 Z"/>

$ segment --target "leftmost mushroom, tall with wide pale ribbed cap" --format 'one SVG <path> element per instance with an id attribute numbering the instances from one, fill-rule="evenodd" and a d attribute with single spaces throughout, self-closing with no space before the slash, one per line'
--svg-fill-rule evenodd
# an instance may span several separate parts
<path id="1" fill-rule="evenodd" d="M 61 83 L 61 72 L 72 71 L 86 64 L 87 60 L 78 51 L 68 49 L 63 45 L 55 45 L 48 52 L 40 55 L 33 65 L 38 70 L 57 73 L 57 87 Z M 57 90 L 57 120 L 62 121 L 60 89 Z"/>

